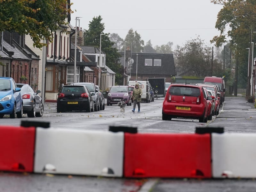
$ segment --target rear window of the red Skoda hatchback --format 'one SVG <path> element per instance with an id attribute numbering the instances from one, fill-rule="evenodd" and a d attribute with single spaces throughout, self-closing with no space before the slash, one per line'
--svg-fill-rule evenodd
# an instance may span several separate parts
<path id="1" fill-rule="evenodd" d="M 200 95 L 200 88 L 172 86 L 169 90 L 169 93 L 171 95 L 198 97 Z"/>

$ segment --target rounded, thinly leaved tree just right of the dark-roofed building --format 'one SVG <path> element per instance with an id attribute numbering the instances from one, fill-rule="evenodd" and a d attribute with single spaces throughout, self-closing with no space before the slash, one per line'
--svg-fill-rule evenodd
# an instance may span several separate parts
<path id="1" fill-rule="evenodd" d="M 182 75 L 211 75 L 212 49 L 199 37 L 187 41 L 184 47 L 177 46 L 175 51 L 176 66 Z"/>

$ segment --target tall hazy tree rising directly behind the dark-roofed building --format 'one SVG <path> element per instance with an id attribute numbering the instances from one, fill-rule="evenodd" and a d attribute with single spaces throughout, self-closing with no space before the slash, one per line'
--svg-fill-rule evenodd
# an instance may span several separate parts
<path id="1" fill-rule="evenodd" d="M 140 34 L 138 34 L 137 31 L 133 32 L 132 28 L 128 31 L 124 41 L 128 41 L 132 44 L 132 52 L 143 52 L 144 41 L 141 40 Z"/>

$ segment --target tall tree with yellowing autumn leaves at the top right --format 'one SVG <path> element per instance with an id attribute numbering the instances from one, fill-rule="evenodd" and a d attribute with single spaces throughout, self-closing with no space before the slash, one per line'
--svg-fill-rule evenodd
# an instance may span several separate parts
<path id="1" fill-rule="evenodd" d="M 215 28 L 220 31 L 219 36 L 214 36 L 212 43 L 220 46 L 230 42 L 230 48 L 239 60 L 238 86 L 246 87 L 247 60 L 246 48 L 255 42 L 256 1 L 255 0 L 212 0 L 214 4 L 222 4 L 223 8 L 218 13 Z"/>

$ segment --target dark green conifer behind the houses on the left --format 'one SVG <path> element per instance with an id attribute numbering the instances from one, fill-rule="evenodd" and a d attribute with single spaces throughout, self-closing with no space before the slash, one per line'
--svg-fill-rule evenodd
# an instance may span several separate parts
<path id="1" fill-rule="evenodd" d="M 104 23 L 101 23 L 102 17 L 93 17 L 89 22 L 89 29 L 84 31 L 84 44 L 100 47 L 100 34 L 104 34 Z M 123 84 L 124 69 L 118 63 L 121 57 L 120 53 L 113 47 L 115 42 L 111 41 L 109 33 L 101 36 L 101 50 L 106 54 L 106 65 L 116 73 L 116 83 Z"/>

